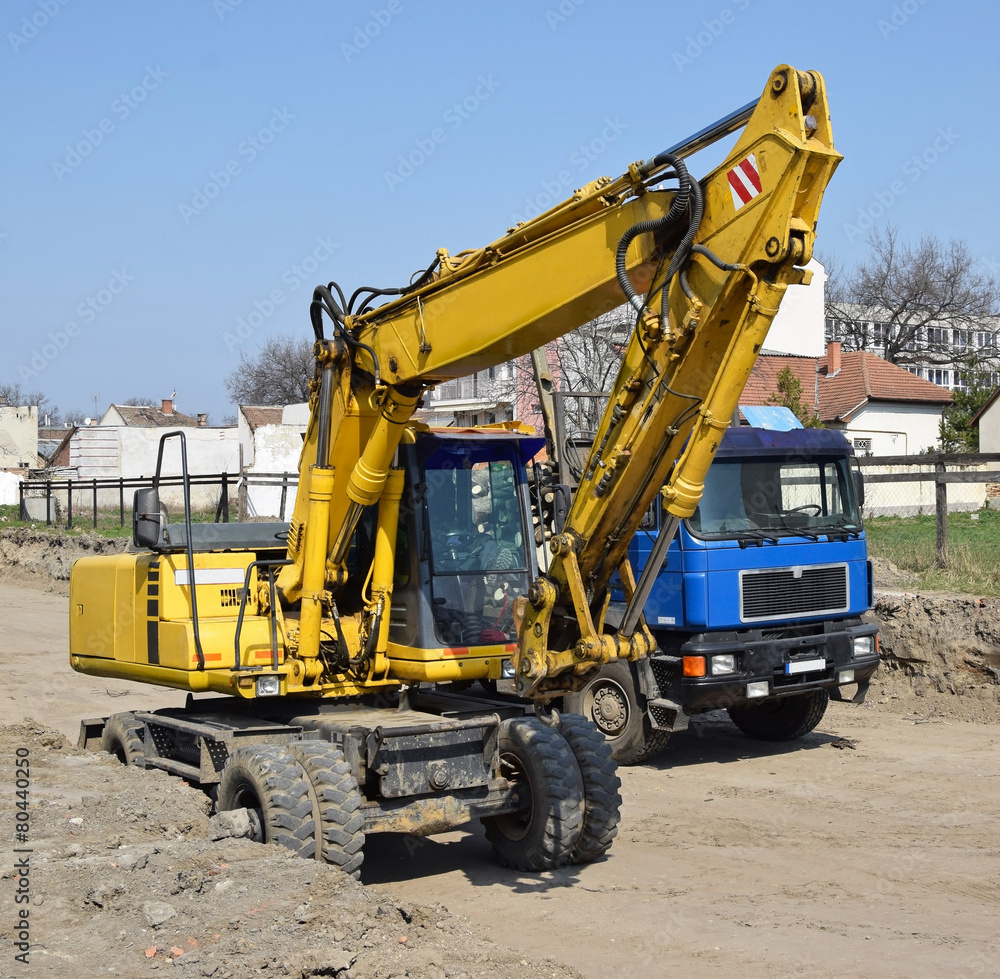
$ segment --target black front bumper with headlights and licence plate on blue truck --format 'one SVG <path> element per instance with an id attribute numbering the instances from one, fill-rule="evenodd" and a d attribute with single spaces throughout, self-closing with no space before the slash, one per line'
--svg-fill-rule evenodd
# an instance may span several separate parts
<path id="1" fill-rule="evenodd" d="M 829 690 L 835 700 L 840 687 L 858 685 L 850 699 L 860 703 L 878 667 L 878 627 L 860 619 L 825 623 L 822 631 L 791 636 L 767 636 L 765 630 L 745 633 L 703 633 L 692 636 L 672 655 L 655 655 L 651 666 L 661 690 L 679 693 L 685 713 L 731 707 L 748 700 L 794 697 Z M 801 633 L 803 630 L 795 630 Z M 872 637 L 870 643 L 858 642 Z M 870 645 L 871 652 L 857 647 Z M 684 676 L 685 658 L 704 676 Z M 721 658 L 721 659 L 720 659 Z M 731 664 L 730 664 L 731 661 Z M 722 672 L 732 665 L 731 672 Z"/>

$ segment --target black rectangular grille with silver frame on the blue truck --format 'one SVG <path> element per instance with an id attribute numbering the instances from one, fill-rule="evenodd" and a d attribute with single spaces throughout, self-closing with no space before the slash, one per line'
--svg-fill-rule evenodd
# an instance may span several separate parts
<path id="1" fill-rule="evenodd" d="M 744 622 L 847 609 L 846 564 L 740 572 L 740 618 Z"/>

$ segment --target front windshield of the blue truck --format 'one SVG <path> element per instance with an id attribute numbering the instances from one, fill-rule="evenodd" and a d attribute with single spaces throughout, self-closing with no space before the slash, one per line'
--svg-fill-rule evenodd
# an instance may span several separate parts
<path id="1" fill-rule="evenodd" d="M 700 537 L 730 539 L 861 532 L 845 458 L 716 459 L 687 523 Z"/>

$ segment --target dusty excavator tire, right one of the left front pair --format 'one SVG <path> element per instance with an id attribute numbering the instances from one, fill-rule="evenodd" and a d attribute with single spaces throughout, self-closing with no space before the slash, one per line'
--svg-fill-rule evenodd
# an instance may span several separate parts
<path id="1" fill-rule="evenodd" d="M 291 749 L 315 797 L 320 834 L 316 856 L 345 874 L 360 877 L 365 819 L 361 791 L 343 751 L 325 741 L 302 741 Z"/>

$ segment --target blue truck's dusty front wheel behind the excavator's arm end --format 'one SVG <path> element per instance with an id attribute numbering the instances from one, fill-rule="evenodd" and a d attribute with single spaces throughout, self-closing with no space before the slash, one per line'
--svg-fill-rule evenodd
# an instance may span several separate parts
<path id="1" fill-rule="evenodd" d="M 636 690 L 628 663 L 607 663 L 576 693 L 563 697 L 563 710 L 593 721 L 619 765 L 638 765 L 659 754 L 669 731 L 652 726 L 645 698 Z"/>

